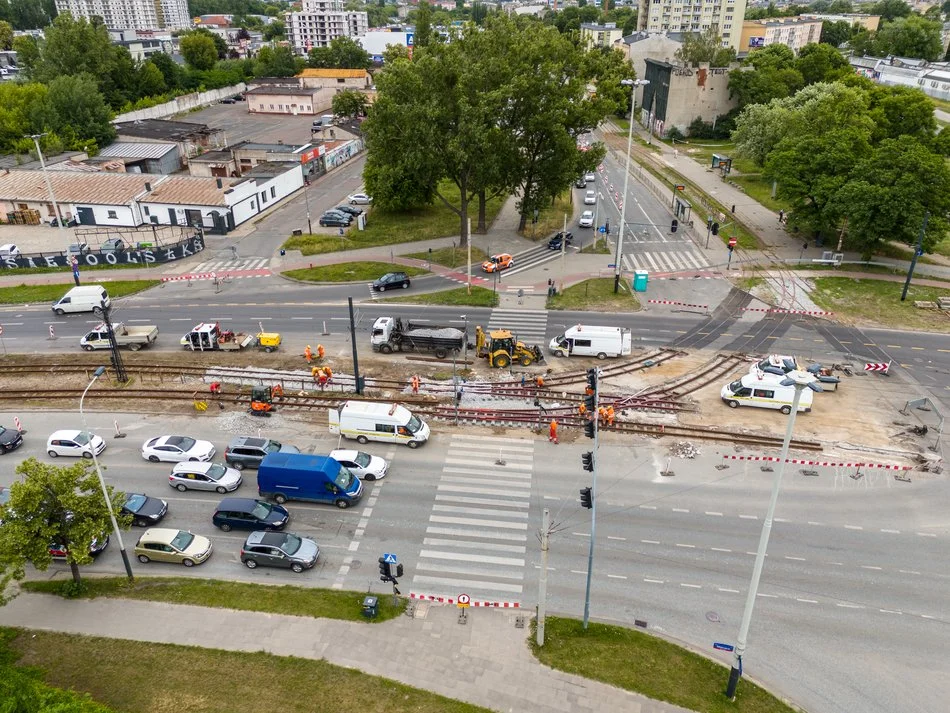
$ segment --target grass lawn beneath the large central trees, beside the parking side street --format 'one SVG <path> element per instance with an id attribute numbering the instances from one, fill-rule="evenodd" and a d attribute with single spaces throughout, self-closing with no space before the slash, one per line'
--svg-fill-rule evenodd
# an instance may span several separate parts
<path id="1" fill-rule="evenodd" d="M 451 182 L 440 186 L 442 195 L 454 206 L 459 204 L 459 192 Z M 488 201 L 485 218 L 490 225 L 501 210 L 505 198 Z M 469 203 L 469 216 L 474 225 L 478 218 L 478 201 Z M 355 227 L 346 229 L 345 240 L 339 235 L 299 235 L 289 238 L 282 247 L 286 250 L 300 250 L 304 255 L 356 250 L 377 245 L 396 245 L 419 240 L 445 238 L 458 235 L 461 224 L 458 215 L 441 201 L 436 199 L 432 205 L 410 211 L 386 211 L 374 208 L 366 222 L 366 230 Z"/>

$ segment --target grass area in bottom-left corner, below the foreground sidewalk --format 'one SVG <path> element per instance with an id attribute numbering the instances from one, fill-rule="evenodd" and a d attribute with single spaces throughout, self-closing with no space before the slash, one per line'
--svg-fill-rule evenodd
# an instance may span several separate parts
<path id="1" fill-rule="evenodd" d="M 21 666 L 39 667 L 46 682 L 88 692 L 116 711 L 487 713 L 319 659 L 5 631 L 16 634 L 9 646 L 20 654 Z"/>

